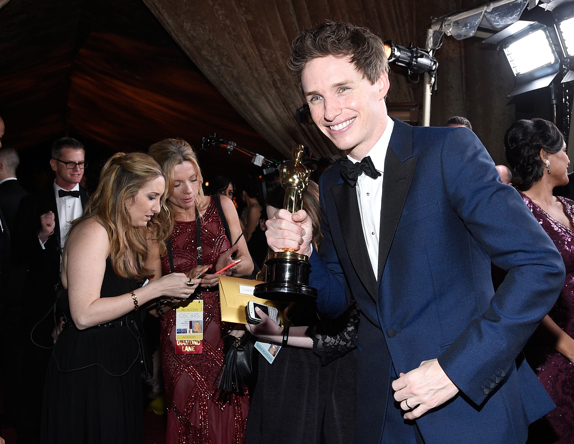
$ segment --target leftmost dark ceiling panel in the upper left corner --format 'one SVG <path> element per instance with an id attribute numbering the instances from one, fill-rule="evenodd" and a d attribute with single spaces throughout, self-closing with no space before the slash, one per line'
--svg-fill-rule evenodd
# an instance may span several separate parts
<path id="1" fill-rule="evenodd" d="M 0 9 L 3 142 L 22 149 L 65 129 L 78 0 L 13 0 Z"/>

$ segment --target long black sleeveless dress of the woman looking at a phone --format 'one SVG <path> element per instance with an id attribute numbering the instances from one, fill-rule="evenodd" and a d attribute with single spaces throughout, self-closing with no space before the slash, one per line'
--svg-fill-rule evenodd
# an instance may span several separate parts
<path id="1" fill-rule="evenodd" d="M 138 288 L 114 273 L 106 260 L 100 298 Z M 59 306 L 64 329 L 48 365 L 42 406 L 42 444 L 141 444 L 144 442 L 142 329 L 135 311 L 78 330 L 69 314 L 68 292 Z M 151 368 L 151 366 L 149 366 Z"/>

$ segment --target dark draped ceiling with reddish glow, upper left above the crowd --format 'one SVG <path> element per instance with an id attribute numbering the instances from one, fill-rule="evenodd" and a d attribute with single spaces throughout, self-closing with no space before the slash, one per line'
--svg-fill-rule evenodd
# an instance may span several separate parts
<path id="1" fill-rule="evenodd" d="M 282 159 L 179 49 L 141 0 L 13 0 L 0 9 L 3 146 L 20 153 L 30 191 L 53 180 L 50 147 L 75 137 L 86 146 L 88 179 L 114 152 L 147 150 L 165 137 L 199 148 L 217 132 Z M 233 67 L 229 67 L 230 70 Z M 199 152 L 206 178 L 258 173 L 249 157 Z"/>

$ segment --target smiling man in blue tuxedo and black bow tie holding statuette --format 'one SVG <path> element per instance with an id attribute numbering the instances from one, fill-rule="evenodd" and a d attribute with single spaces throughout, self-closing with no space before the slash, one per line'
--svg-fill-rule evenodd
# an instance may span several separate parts
<path id="1" fill-rule="evenodd" d="M 289 64 L 347 159 L 320 179 L 320 251 L 304 211 L 278 211 L 267 242 L 309 256 L 319 311 L 360 307 L 356 442 L 524 443 L 554 408 L 521 353 L 564 283 L 553 242 L 474 133 L 387 116 L 369 29 L 305 30 Z"/>

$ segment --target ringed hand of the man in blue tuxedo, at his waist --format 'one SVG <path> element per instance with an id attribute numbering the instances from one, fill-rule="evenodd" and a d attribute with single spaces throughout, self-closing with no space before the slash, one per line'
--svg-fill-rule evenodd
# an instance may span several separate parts
<path id="1" fill-rule="evenodd" d="M 401 373 L 393 381 L 394 399 L 407 411 L 405 419 L 417 419 L 451 399 L 459 389 L 441 368 L 439 360 L 422 361 L 408 373 Z"/>

